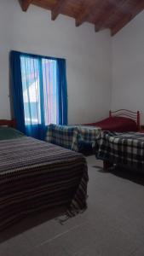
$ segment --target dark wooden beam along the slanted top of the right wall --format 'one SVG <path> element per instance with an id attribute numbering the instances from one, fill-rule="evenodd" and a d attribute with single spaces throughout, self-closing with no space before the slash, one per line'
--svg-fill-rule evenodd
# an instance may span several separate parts
<path id="1" fill-rule="evenodd" d="M 111 34 L 114 36 L 120 29 L 122 29 L 127 23 L 130 22 L 136 15 L 138 15 L 144 9 L 144 2 L 135 3 L 133 12 L 129 15 L 122 15 L 121 19 L 118 20 L 115 26 L 111 27 Z"/>

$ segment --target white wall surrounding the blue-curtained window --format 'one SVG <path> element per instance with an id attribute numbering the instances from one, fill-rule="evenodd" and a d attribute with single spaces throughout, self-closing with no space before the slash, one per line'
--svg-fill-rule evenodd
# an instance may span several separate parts
<path id="1" fill-rule="evenodd" d="M 9 50 L 66 58 L 69 123 L 107 116 L 111 101 L 111 38 L 94 26 L 75 27 L 74 20 L 30 6 L 26 13 L 18 0 L 0 0 L 0 119 L 10 118 Z"/>

